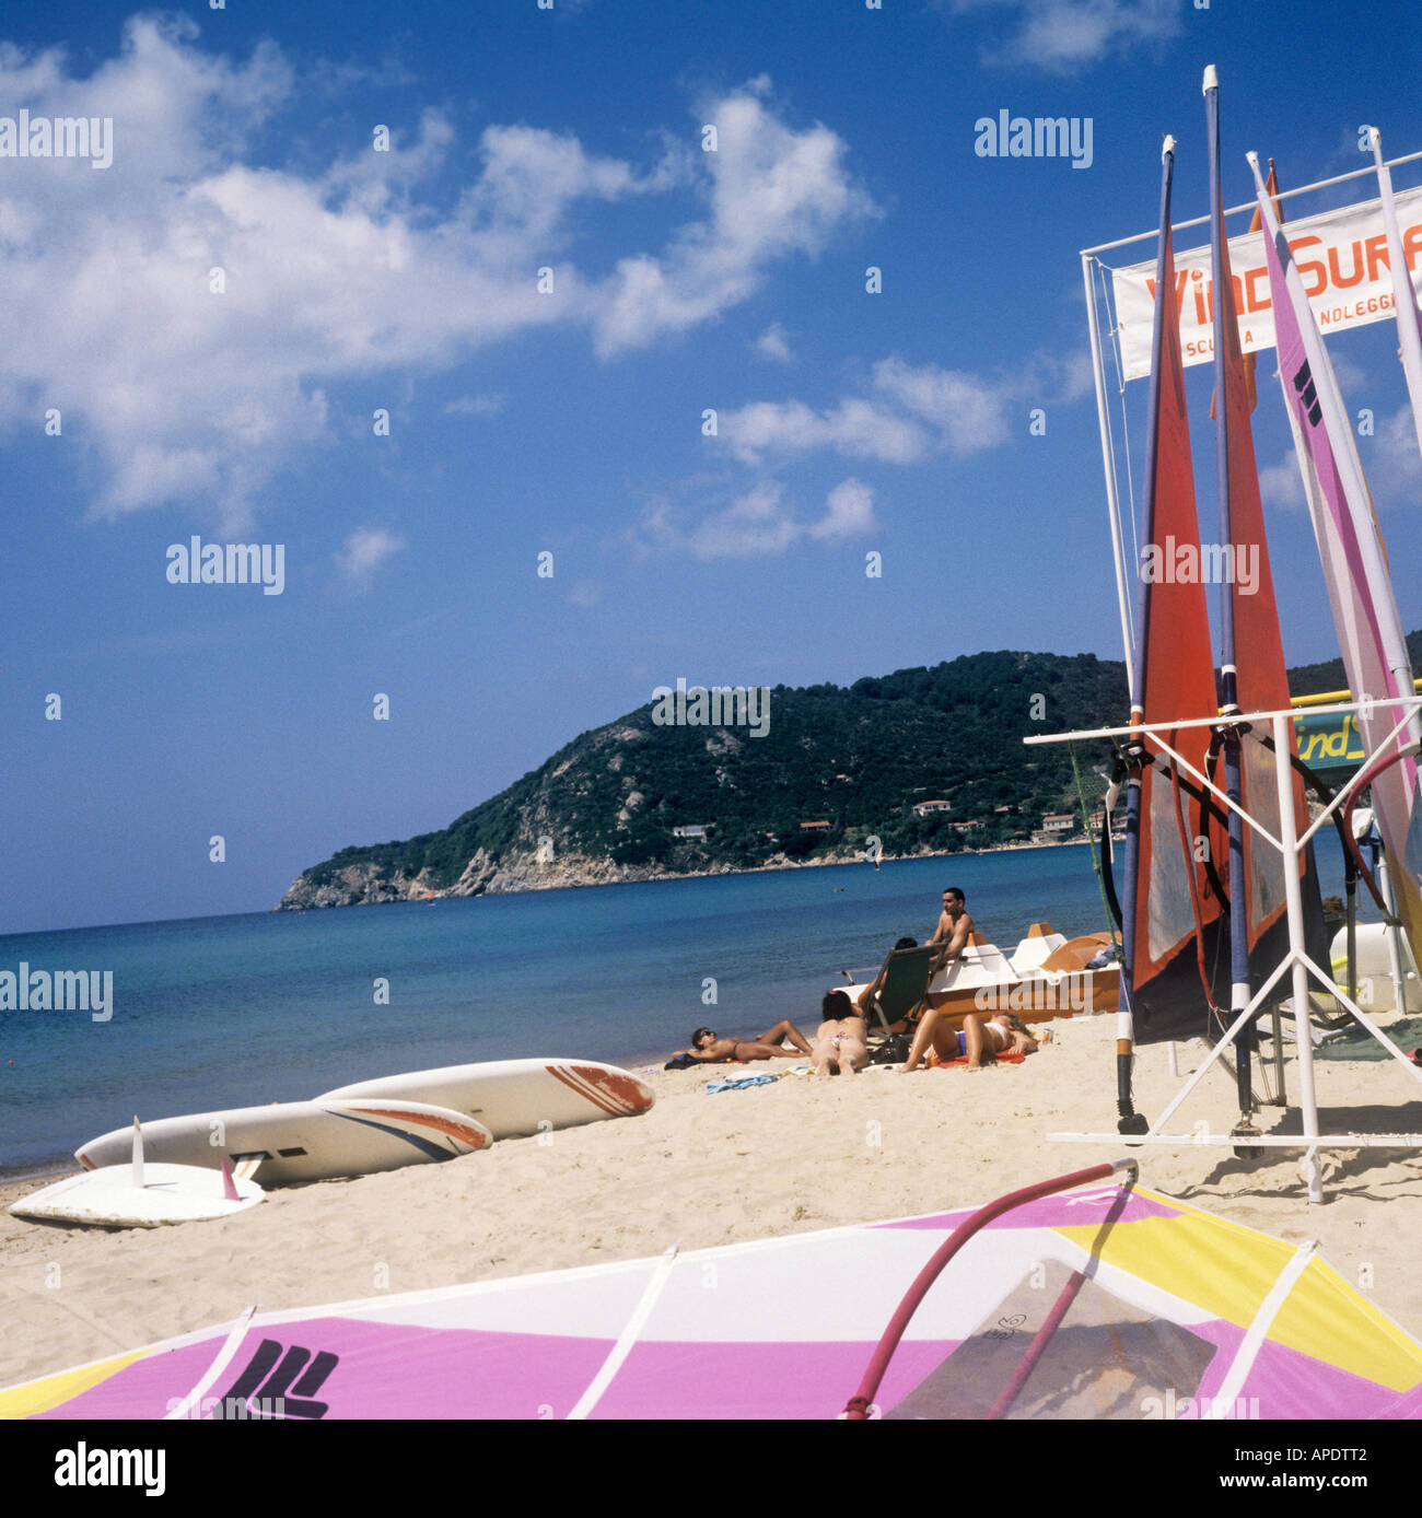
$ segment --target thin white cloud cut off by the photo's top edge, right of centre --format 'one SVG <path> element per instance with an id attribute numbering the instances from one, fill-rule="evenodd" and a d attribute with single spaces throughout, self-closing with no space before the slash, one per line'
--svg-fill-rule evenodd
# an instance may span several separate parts
<path id="1" fill-rule="evenodd" d="M 938 0 L 949 15 L 1003 15 L 1006 36 L 983 50 L 985 62 L 1058 74 L 1179 36 L 1185 0 Z"/>

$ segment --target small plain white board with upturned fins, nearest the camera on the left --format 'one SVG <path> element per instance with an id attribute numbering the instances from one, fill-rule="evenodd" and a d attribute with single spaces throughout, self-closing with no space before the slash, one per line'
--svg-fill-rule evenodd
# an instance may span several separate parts
<path id="1" fill-rule="evenodd" d="M 144 1132 L 144 1138 L 147 1132 Z M 134 1184 L 132 1164 L 109 1164 L 102 1170 L 68 1175 L 11 1205 L 17 1217 L 46 1222 L 93 1224 L 100 1228 L 161 1228 L 228 1217 L 266 1201 L 255 1183 L 232 1183 L 237 1201 L 228 1196 L 223 1173 L 196 1164 L 143 1166 L 143 1184 Z"/>

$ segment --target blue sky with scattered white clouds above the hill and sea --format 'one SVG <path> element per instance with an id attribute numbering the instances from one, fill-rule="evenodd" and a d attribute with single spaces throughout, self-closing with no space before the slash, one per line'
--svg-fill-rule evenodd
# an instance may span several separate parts
<path id="1" fill-rule="evenodd" d="M 1246 149 L 1285 187 L 1361 167 L 1363 121 L 1422 149 L 1401 3 L 56 0 L 0 26 L 0 115 L 114 120 L 109 168 L 0 159 L 0 931 L 269 908 L 677 677 L 1120 657 L 1079 249 L 1152 225 L 1166 131 L 1176 216 L 1206 209 L 1206 62 L 1232 203 Z M 1000 109 L 1090 118 L 1090 167 L 977 156 Z M 1334 346 L 1389 424 L 1393 346 Z M 1261 389 L 1285 651 L 1332 657 Z M 1416 445 L 1361 446 L 1414 627 Z M 284 545 L 282 594 L 170 584 L 194 533 Z"/>

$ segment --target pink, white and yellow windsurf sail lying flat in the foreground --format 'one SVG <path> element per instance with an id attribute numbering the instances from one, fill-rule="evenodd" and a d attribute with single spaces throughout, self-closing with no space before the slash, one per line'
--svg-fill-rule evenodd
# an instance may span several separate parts
<path id="1" fill-rule="evenodd" d="M 247 1313 L 0 1390 L 0 1419 L 581 1407 L 592 1419 L 829 1421 L 862 1384 L 891 1305 L 971 1222 L 880 1368 L 880 1416 L 1422 1415 L 1422 1345 L 1317 1254 L 1138 1186 L 1046 1190 L 1003 1199 L 1021 1204 L 1011 1210 Z"/>

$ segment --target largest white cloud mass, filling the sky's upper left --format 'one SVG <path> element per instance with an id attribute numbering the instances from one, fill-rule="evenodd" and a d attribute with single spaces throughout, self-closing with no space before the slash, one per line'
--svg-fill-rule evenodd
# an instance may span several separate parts
<path id="1" fill-rule="evenodd" d="M 783 124 L 759 85 L 709 103 L 719 153 L 669 149 L 651 167 L 490 126 L 452 208 L 422 197 L 454 173 L 455 128 L 437 111 L 392 124 L 389 153 L 255 167 L 255 134 L 296 103 L 294 70 L 275 44 L 238 59 L 196 35 L 135 17 L 87 77 L 56 50 L 0 46 L 8 108 L 114 118 L 111 168 L 29 161 L 0 181 L 0 424 L 47 407 L 77 419 L 102 468 L 99 515 L 184 504 L 243 531 L 272 481 L 334 440 L 334 386 L 423 376 L 554 323 L 601 354 L 654 342 L 718 317 L 870 206 L 844 143 Z M 577 213 L 692 179 L 703 220 L 606 278 L 578 269 Z M 537 291 L 543 263 L 555 296 Z"/>

